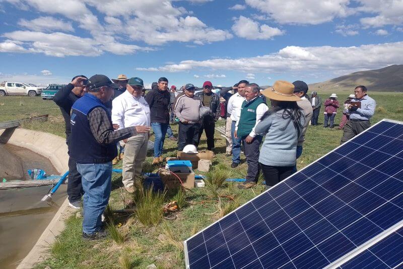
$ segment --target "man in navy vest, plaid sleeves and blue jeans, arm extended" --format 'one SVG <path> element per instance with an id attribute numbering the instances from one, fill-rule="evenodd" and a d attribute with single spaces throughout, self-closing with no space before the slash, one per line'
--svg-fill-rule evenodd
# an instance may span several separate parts
<path id="1" fill-rule="evenodd" d="M 70 156 L 76 160 L 84 189 L 83 239 L 100 239 L 107 235 L 101 216 L 109 201 L 112 159 L 117 156 L 116 142 L 150 127 L 131 126 L 113 131 L 109 110 L 104 105 L 118 85 L 107 76 L 94 75 L 88 80 L 87 91 L 72 107 L 72 140 Z"/>

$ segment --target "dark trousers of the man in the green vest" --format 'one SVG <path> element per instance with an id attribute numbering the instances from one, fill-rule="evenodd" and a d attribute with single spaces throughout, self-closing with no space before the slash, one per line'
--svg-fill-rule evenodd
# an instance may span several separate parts
<path id="1" fill-rule="evenodd" d="M 262 137 L 256 136 L 252 143 L 248 144 L 245 138 L 242 139 L 243 145 L 245 147 L 245 157 L 248 163 L 248 172 L 246 174 L 246 181 L 257 182 L 260 173 L 259 167 L 259 153 L 260 153 L 260 142 Z"/>

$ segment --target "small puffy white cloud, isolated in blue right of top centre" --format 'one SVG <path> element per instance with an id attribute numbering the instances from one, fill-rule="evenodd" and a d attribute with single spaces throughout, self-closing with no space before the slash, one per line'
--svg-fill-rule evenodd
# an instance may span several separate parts
<path id="1" fill-rule="evenodd" d="M 284 32 L 279 28 L 270 27 L 266 24 L 259 25 L 258 22 L 249 18 L 239 16 L 232 26 L 234 33 L 246 39 L 270 39 L 276 35 L 283 35 Z"/>

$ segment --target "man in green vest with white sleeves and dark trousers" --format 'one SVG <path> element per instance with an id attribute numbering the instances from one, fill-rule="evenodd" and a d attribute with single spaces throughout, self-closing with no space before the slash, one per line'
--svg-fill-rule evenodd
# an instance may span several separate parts
<path id="1" fill-rule="evenodd" d="M 240 189 L 249 189 L 256 186 L 259 178 L 259 153 L 262 137 L 255 133 L 255 127 L 261 117 L 268 110 L 267 105 L 259 98 L 260 88 L 256 83 L 247 84 L 245 87 L 245 101 L 242 103 L 241 116 L 235 124 L 234 136 L 242 138 L 245 147 L 245 157 L 248 163 L 246 182 L 238 184 Z"/>

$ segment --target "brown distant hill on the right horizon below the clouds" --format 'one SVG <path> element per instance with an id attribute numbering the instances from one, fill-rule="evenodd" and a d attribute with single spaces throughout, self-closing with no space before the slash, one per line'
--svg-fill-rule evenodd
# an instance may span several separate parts
<path id="1" fill-rule="evenodd" d="M 370 91 L 403 91 L 403 65 L 354 72 L 328 81 L 313 83 L 309 90 L 352 90 L 364 85 Z"/>

